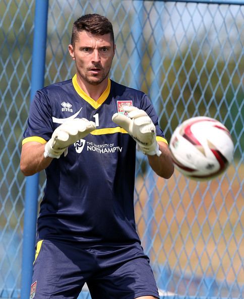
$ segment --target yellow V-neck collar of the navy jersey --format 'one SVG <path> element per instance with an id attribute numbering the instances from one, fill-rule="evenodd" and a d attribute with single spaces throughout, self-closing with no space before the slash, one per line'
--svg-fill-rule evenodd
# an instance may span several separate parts
<path id="1" fill-rule="evenodd" d="M 105 89 L 105 91 L 101 94 L 101 96 L 99 97 L 99 99 L 97 101 L 93 100 L 91 97 L 89 97 L 79 86 L 79 84 L 77 83 L 77 74 L 75 74 L 75 76 L 72 78 L 72 83 L 73 86 L 76 90 L 76 92 L 78 93 L 78 95 L 80 97 L 82 97 L 85 101 L 87 101 L 93 108 L 97 109 L 98 107 L 100 107 L 102 105 L 102 103 L 104 103 L 104 101 L 107 99 L 109 93 L 110 93 L 110 86 L 111 86 L 111 82 L 110 79 L 108 78 L 108 84 L 107 84 L 107 88 Z"/>

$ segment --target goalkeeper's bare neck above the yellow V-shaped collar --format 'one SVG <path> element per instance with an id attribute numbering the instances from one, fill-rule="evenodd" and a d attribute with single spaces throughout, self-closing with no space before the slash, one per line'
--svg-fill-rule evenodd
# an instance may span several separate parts
<path id="1" fill-rule="evenodd" d="M 94 101 L 97 101 L 102 93 L 106 90 L 108 85 L 108 78 L 104 79 L 101 83 L 93 85 L 84 82 L 79 77 L 79 74 L 77 73 L 77 83 L 80 86 L 80 88 Z"/>

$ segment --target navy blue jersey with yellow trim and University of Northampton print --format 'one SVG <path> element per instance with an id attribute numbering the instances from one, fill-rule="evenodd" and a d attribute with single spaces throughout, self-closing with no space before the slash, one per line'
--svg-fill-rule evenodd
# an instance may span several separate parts
<path id="1" fill-rule="evenodd" d="M 37 240 L 73 240 L 89 244 L 140 242 L 134 217 L 136 142 L 112 121 L 123 105 L 143 109 L 165 141 L 146 94 L 108 81 L 97 101 L 72 80 L 37 91 L 31 103 L 23 144 L 45 143 L 54 129 L 72 118 L 85 117 L 96 130 L 53 159 L 45 169 L 46 186 L 37 223 Z"/>

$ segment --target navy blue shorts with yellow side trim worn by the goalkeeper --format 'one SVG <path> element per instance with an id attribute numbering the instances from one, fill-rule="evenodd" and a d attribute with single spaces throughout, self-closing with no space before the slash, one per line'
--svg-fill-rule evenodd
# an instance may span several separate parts
<path id="1" fill-rule="evenodd" d="M 85 282 L 92 299 L 159 298 L 149 259 L 140 244 L 81 248 L 39 241 L 30 298 L 77 298 Z"/>

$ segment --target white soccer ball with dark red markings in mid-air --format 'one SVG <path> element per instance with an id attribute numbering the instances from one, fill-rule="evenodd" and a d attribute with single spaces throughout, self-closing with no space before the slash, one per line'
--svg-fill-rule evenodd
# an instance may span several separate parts
<path id="1" fill-rule="evenodd" d="M 177 126 L 169 148 L 175 168 L 197 181 L 211 180 L 223 173 L 234 152 L 228 129 L 205 116 L 192 117 Z"/>

